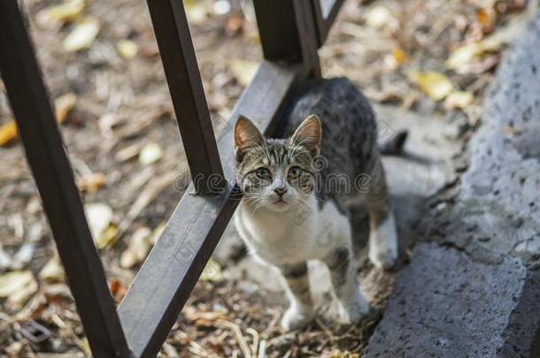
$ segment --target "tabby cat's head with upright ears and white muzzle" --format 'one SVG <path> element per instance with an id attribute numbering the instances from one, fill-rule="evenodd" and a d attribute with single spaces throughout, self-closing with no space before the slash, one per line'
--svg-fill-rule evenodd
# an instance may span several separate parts
<path id="1" fill-rule="evenodd" d="M 320 119 L 305 118 L 288 139 L 265 139 L 248 118 L 235 126 L 236 182 L 256 209 L 285 211 L 305 203 L 315 184 Z"/>

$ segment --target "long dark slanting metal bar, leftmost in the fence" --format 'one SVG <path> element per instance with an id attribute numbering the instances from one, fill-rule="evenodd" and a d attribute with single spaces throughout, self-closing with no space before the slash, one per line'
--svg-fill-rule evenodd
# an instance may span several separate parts
<path id="1" fill-rule="evenodd" d="M 17 0 L 0 1 L 0 72 L 90 348 L 96 357 L 126 357 L 126 339 Z"/>

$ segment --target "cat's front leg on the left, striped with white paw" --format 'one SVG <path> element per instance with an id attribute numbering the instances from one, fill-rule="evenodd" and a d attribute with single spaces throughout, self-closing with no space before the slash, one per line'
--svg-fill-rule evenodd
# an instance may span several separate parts
<path id="1" fill-rule="evenodd" d="M 312 322 L 314 314 L 307 263 L 282 265 L 279 269 L 285 278 L 290 301 L 282 317 L 282 327 L 288 331 L 303 328 Z"/>

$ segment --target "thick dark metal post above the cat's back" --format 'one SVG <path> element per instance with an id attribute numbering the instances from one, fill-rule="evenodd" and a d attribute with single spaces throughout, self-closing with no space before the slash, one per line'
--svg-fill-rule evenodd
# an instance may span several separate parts
<path id="1" fill-rule="evenodd" d="M 310 0 L 254 0 L 263 54 L 270 61 L 303 63 L 320 77 L 314 10 Z"/>

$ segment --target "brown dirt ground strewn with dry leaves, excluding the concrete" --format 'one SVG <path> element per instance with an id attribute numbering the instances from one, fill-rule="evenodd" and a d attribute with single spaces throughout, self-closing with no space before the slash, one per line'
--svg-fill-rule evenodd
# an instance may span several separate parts
<path id="1" fill-rule="evenodd" d="M 66 3 L 75 10 L 50 11 Z M 184 4 L 218 134 L 262 58 L 251 3 Z M 374 103 L 449 120 L 459 114 L 474 130 L 525 6 L 525 0 L 348 0 L 320 50 L 322 72 L 350 78 Z M 172 183 L 188 169 L 150 16 L 143 1 L 24 0 L 22 7 L 120 302 L 181 198 Z M 88 342 L 22 146 L 7 133 L 10 120 L 0 84 L 0 354 L 83 356 Z M 359 356 L 391 289 L 392 275 L 366 263 L 360 276 L 383 283 L 371 316 L 341 331 L 319 320 L 286 333 L 279 327 L 282 305 L 229 275 L 234 264 L 212 262 L 213 274 L 197 284 L 162 356 Z M 24 333 L 33 322 L 48 330 L 40 342 Z"/>

